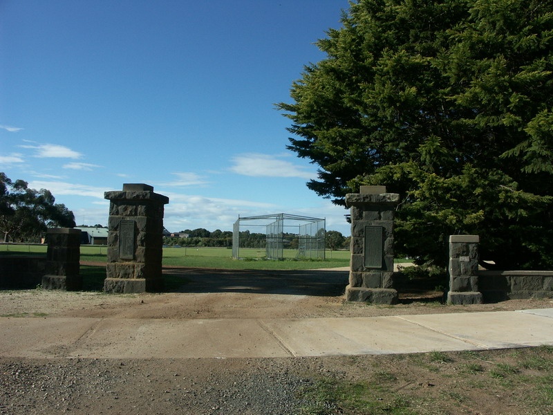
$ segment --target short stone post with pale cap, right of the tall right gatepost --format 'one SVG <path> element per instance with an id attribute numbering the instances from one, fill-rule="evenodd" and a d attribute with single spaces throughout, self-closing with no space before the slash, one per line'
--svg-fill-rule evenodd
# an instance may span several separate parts
<path id="1" fill-rule="evenodd" d="M 482 304 L 478 291 L 478 235 L 449 236 L 449 292 L 451 304 Z"/>

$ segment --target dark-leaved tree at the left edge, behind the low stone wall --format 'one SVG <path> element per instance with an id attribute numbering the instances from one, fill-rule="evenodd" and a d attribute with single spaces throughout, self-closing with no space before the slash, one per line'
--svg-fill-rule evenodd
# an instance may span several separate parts
<path id="1" fill-rule="evenodd" d="M 47 228 L 74 228 L 75 216 L 46 189 L 29 189 L 0 172 L 0 232 L 4 241 L 39 241 Z"/>

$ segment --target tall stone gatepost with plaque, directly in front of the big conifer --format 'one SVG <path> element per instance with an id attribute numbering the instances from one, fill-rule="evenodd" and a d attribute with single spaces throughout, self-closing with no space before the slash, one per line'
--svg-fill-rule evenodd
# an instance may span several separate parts
<path id="1" fill-rule="evenodd" d="M 361 186 L 347 194 L 351 208 L 350 280 L 346 300 L 395 304 L 393 288 L 393 216 L 400 195 L 385 186 Z"/>

